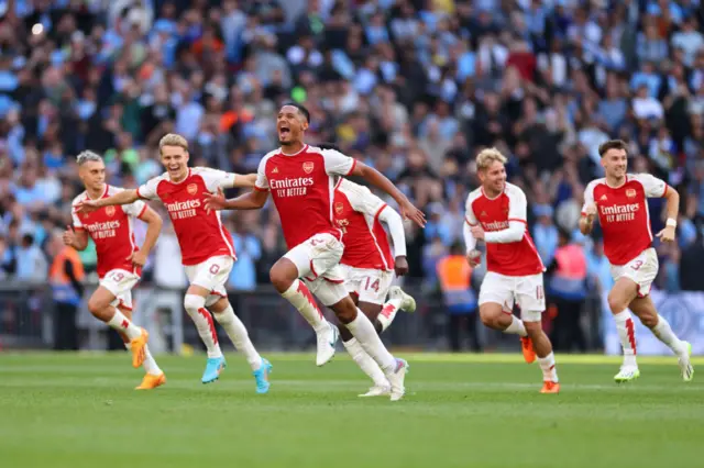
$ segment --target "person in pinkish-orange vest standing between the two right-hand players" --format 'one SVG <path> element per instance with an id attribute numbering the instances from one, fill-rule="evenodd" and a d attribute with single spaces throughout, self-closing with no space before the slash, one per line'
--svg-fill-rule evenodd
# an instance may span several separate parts
<path id="1" fill-rule="evenodd" d="M 584 247 L 571 239 L 570 233 L 560 230 L 558 248 L 548 267 L 550 280 L 548 293 L 557 307 L 550 341 L 556 349 L 586 352 L 586 339 L 581 316 L 586 299 L 586 255 Z"/>

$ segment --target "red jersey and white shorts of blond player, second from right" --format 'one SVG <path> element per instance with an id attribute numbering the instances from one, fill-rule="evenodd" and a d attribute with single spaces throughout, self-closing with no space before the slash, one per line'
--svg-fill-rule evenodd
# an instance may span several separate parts
<path id="1" fill-rule="evenodd" d="M 507 182 L 492 199 L 479 188 L 469 194 L 465 210 L 466 223 L 481 223 L 485 232 L 487 274 L 480 290 L 480 305 L 495 302 L 510 313 L 517 302 L 525 321 L 540 321 L 546 310 L 544 266 L 527 229 L 524 191 Z"/>

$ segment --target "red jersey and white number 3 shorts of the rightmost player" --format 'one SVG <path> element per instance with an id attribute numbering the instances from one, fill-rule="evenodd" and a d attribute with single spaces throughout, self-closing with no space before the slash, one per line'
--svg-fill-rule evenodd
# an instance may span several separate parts
<path id="1" fill-rule="evenodd" d="M 664 197 L 668 185 L 649 174 L 627 174 L 617 188 L 606 179 L 592 180 L 584 191 L 586 207 L 596 204 L 598 222 L 604 233 L 604 255 L 610 264 L 614 281 L 626 277 L 638 285 L 638 294 L 650 292 L 658 276 L 658 255 L 652 248 L 648 198 Z"/>

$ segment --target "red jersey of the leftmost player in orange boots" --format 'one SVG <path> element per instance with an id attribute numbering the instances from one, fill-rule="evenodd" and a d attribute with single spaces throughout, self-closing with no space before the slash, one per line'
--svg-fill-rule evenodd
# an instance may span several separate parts
<path id="1" fill-rule="evenodd" d="M 102 198 L 112 197 L 123 189 L 106 185 Z M 79 201 L 88 200 L 88 193 L 82 192 L 73 201 L 75 207 Z M 88 231 L 88 235 L 96 244 L 98 255 L 98 277 L 102 279 L 110 270 L 121 269 L 142 275 L 141 268 L 134 268 L 128 257 L 139 250 L 134 242 L 134 219 L 146 211 L 146 204 L 138 200 L 121 207 L 103 207 L 92 213 L 77 213 L 73 211 L 74 229 Z"/>

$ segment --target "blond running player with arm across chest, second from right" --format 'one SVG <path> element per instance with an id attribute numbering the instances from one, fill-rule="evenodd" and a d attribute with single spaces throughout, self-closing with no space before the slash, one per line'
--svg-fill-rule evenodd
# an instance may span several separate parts
<path id="1" fill-rule="evenodd" d="M 470 265 L 481 261 L 477 241 L 486 242 L 486 276 L 480 289 L 480 316 L 484 325 L 517 334 L 527 363 L 536 360 L 542 370 L 541 393 L 558 393 L 560 383 L 552 344 L 541 326 L 546 310 L 542 286 L 544 266 L 527 230 L 526 194 L 506 182 L 506 157 L 496 148 L 476 156 L 482 186 L 466 199 L 466 243 Z M 514 302 L 520 316 L 513 314 Z"/>

